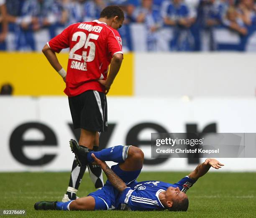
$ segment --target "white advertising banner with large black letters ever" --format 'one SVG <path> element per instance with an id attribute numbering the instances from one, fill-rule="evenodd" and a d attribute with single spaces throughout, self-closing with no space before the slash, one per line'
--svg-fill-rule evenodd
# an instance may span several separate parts
<path id="1" fill-rule="evenodd" d="M 66 97 L 0 98 L 0 171 L 69 171 L 74 155 Z M 100 147 L 135 144 L 145 153 L 143 170 L 193 170 L 189 158 L 151 158 L 151 132 L 256 132 L 255 99 L 108 98 L 109 131 Z M 256 171 L 255 158 L 222 158 L 222 171 Z"/>

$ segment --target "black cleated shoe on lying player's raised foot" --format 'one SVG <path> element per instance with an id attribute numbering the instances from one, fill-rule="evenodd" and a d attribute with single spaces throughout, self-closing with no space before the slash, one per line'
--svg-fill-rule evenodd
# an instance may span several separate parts
<path id="1" fill-rule="evenodd" d="M 69 146 L 76 156 L 77 164 L 79 167 L 86 166 L 88 164 L 87 154 L 92 150 L 84 146 L 79 146 L 74 139 L 70 139 Z"/>

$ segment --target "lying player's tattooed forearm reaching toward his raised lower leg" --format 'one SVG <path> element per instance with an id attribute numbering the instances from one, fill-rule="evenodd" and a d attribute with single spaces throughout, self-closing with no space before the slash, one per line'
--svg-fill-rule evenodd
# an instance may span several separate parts
<path id="1" fill-rule="evenodd" d="M 105 161 L 101 161 L 97 157 L 95 157 L 94 154 L 92 154 L 92 158 L 95 160 L 96 164 L 99 165 L 102 170 L 105 172 L 106 176 L 108 177 L 108 180 L 110 183 L 119 191 L 123 192 L 125 188 L 127 188 L 126 184 L 121 180 L 121 178 L 111 170 Z"/>

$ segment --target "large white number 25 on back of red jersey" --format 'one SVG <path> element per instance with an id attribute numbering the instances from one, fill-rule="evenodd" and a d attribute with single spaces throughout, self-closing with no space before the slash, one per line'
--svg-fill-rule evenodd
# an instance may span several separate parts
<path id="1" fill-rule="evenodd" d="M 97 40 L 99 38 L 99 35 L 90 33 L 87 37 L 84 32 L 76 32 L 72 36 L 72 41 L 76 42 L 78 36 L 80 36 L 80 39 L 77 42 L 77 44 L 75 44 L 74 47 L 70 50 L 69 59 L 81 61 L 83 58 L 84 61 L 86 61 L 86 62 L 93 61 L 95 58 L 96 46 L 95 46 L 94 42 L 90 41 L 90 39 Z M 88 46 L 90 47 L 89 55 L 87 56 L 87 51 L 83 51 L 82 55 L 75 54 L 75 52 L 77 50 L 79 50 L 80 48 L 82 48 L 83 46 L 85 49 L 88 48 Z"/>

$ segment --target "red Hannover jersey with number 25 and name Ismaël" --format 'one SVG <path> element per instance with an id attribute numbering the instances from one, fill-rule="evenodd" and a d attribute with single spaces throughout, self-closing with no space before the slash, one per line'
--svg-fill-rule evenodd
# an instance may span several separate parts
<path id="1" fill-rule="evenodd" d="M 87 90 L 104 92 L 105 87 L 97 80 L 107 78 L 112 57 L 123 53 L 118 31 L 98 20 L 70 25 L 48 46 L 57 53 L 70 48 L 64 90 L 69 97 Z"/>

